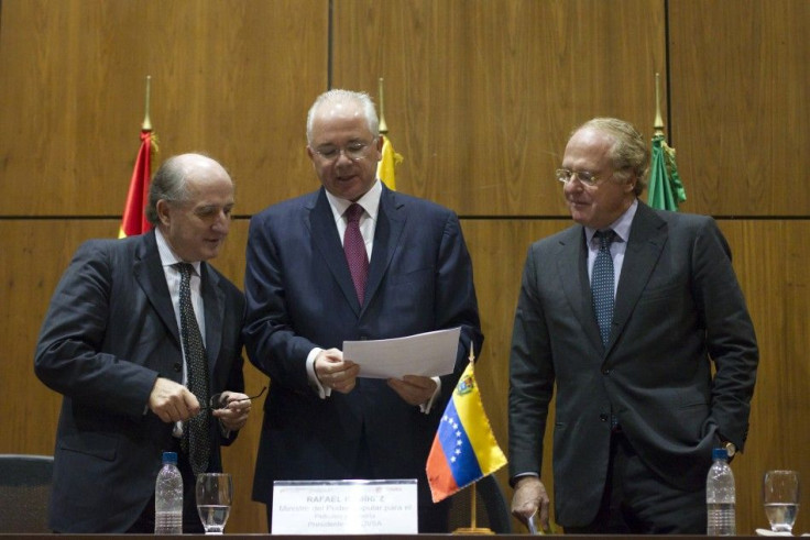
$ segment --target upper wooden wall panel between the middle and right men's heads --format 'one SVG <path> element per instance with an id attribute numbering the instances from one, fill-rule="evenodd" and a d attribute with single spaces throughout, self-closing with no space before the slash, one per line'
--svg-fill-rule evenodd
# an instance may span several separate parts
<path id="1" fill-rule="evenodd" d="M 335 87 L 377 95 L 397 188 L 461 214 L 568 216 L 554 179 L 572 128 L 652 135 L 664 2 L 338 0 Z"/>

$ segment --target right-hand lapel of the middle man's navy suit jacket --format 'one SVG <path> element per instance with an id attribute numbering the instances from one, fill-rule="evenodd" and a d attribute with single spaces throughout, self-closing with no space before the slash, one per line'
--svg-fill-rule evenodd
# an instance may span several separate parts
<path id="1" fill-rule="evenodd" d="M 374 249 L 369 265 L 369 282 L 365 285 L 365 306 L 370 304 L 380 288 L 383 276 L 394 257 L 394 252 L 399 245 L 399 236 L 406 221 L 405 205 L 397 200 L 394 191 L 383 185 L 374 231 Z"/>

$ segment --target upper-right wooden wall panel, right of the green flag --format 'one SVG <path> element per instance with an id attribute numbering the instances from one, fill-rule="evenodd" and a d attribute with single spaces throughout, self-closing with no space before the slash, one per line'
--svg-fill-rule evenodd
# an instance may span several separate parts
<path id="1" fill-rule="evenodd" d="M 807 216 L 806 0 L 669 2 L 672 142 L 687 211 Z"/>

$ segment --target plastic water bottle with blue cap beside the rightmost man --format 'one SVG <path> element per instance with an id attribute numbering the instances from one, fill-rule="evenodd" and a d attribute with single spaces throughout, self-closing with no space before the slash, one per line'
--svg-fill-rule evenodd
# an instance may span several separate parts
<path id="1" fill-rule="evenodd" d="M 705 509 L 708 522 L 705 533 L 710 537 L 734 536 L 736 525 L 736 494 L 734 473 L 729 466 L 729 453 L 724 448 L 712 451 L 712 463 L 705 478 Z"/>

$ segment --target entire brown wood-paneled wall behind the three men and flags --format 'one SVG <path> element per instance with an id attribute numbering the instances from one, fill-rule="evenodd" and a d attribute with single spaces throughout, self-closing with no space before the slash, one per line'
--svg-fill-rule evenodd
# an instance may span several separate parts
<path id="1" fill-rule="evenodd" d="M 552 170 L 591 117 L 650 136 L 660 73 L 681 210 L 718 219 L 757 329 L 751 436 L 733 464 L 738 531 L 753 533 L 767 525 L 764 471 L 797 469 L 810 482 L 808 22 L 807 0 L 3 0 L 0 452 L 53 452 L 59 396 L 33 374 L 34 344 L 74 250 L 118 232 L 146 75 L 155 166 L 202 151 L 238 184 L 215 264 L 240 286 L 249 217 L 318 186 L 304 152 L 311 101 L 329 87 L 376 96 L 384 77 L 405 157 L 398 189 L 461 217 L 486 335 L 478 378 L 505 447 L 526 250 L 570 223 Z M 251 392 L 265 384 L 252 366 L 245 375 Z M 266 530 L 250 502 L 254 411 L 226 451 L 231 532 Z M 810 531 L 810 513 L 796 530 Z"/>

